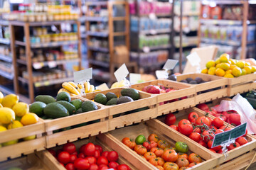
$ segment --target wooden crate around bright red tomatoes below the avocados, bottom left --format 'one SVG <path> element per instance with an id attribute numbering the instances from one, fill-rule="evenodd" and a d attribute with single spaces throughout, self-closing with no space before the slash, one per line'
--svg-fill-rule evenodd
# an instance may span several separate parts
<path id="1" fill-rule="evenodd" d="M 117 151 L 115 148 L 107 145 L 107 143 L 105 143 L 104 141 L 100 140 L 99 138 L 97 138 L 97 136 L 94 137 L 87 137 L 87 139 L 83 139 L 83 140 L 78 140 L 76 142 L 73 142 L 73 144 L 75 144 L 75 147 L 77 149 L 77 151 L 79 150 L 79 148 L 82 145 L 87 144 L 88 142 L 92 142 L 95 145 L 100 145 L 103 149 L 103 151 L 112 151 L 115 150 Z M 58 150 L 58 149 L 62 149 L 63 146 L 58 146 L 58 147 L 54 147 L 51 149 L 54 150 Z M 124 154 L 121 152 L 118 152 L 119 154 L 119 159 L 118 159 L 118 163 L 119 164 L 127 164 L 132 170 L 135 170 L 136 168 L 134 167 L 133 164 L 131 164 L 129 162 L 129 160 L 124 159 Z M 44 150 L 42 152 L 36 152 L 36 155 L 43 160 L 43 162 L 49 162 L 49 164 L 53 164 L 54 166 L 58 167 L 57 169 L 60 170 L 65 170 L 65 168 L 58 162 L 57 159 L 55 159 L 55 157 L 53 157 L 52 154 L 50 154 L 50 152 L 48 152 L 48 150 Z"/>

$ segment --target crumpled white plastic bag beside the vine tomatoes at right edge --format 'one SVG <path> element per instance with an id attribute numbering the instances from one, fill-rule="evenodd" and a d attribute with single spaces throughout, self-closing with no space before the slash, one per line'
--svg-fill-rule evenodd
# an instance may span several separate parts
<path id="1" fill-rule="evenodd" d="M 237 111 L 241 118 L 241 123 L 247 123 L 247 131 L 250 134 L 256 134 L 256 111 L 252 108 L 250 103 L 237 94 L 232 101 L 221 101 L 220 105 L 214 107 L 216 111 Z"/>

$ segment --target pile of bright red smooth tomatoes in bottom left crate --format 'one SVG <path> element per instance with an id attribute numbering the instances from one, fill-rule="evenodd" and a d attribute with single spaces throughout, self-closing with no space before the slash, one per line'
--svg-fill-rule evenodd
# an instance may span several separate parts
<path id="1" fill-rule="evenodd" d="M 53 157 L 58 159 L 58 162 L 65 166 L 68 170 L 129 170 L 126 164 L 118 164 L 119 155 L 115 151 L 105 151 L 100 145 L 87 143 L 79 148 L 79 152 L 73 143 L 63 145 L 62 149 L 57 152 L 53 149 L 48 149 L 53 154 Z"/>

